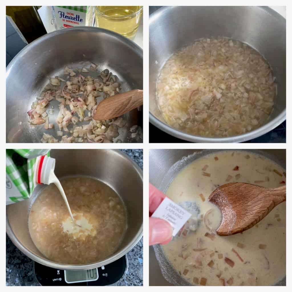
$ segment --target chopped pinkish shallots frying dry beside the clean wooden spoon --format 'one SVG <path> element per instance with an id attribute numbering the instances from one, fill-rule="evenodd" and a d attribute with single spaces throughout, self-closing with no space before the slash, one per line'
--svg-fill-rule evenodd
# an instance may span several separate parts
<path id="1" fill-rule="evenodd" d="M 90 65 L 90 62 L 88 64 Z M 96 72 L 97 65 L 92 63 L 90 66 Z M 67 77 L 69 80 L 65 81 L 58 76 L 50 78 L 50 84 L 45 87 L 28 111 L 29 122 L 33 125 L 44 124 L 45 129 L 52 129 L 53 124 L 49 124 L 48 114 L 54 114 L 54 106 L 51 105 L 48 112 L 46 112 L 46 106 L 55 99 L 60 102 L 58 116 L 55 120 L 59 128 L 57 136 L 62 137 L 60 142 L 83 142 L 87 138 L 89 142 L 111 143 L 119 135 L 117 126 L 124 127 L 126 122 L 121 117 L 115 121 L 95 121 L 92 119 L 91 111 L 93 112 L 98 104 L 96 97 L 101 96 L 100 92 L 103 92 L 103 98 L 115 95 L 120 92 L 120 83 L 108 69 L 102 71 L 103 82 L 100 82 L 99 78 L 84 77 L 80 74 L 81 72 L 87 73 L 89 71 L 83 67 L 77 68 L 74 72 L 73 69 L 65 67 L 64 74 L 69 74 Z M 65 85 L 61 86 L 61 82 L 64 82 Z M 89 123 L 78 127 L 79 121 L 88 121 Z M 72 124 L 75 126 L 69 131 L 68 127 Z M 137 128 L 138 126 L 133 127 L 135 129 L 133 133 L 137 132 Z M 64 135 L 64 132 L 72 136 Z M 121 142 L 121 140 L 118 141 Z M 59 141 L 44 133 L 41 142 L 56 143 Z"/>

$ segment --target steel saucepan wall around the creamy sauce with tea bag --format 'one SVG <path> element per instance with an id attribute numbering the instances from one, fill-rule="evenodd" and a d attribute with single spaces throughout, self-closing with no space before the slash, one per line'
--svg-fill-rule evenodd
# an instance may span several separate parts
<path id="1" fill-rule="evenodd" d="M 162 192 L 166 192 L 172 180 L 178 173 L 194 160 L 207 154 L 222 150 L 189 150 L 189 149 L 151 149 L 149 152 L 149 182 Z M 223 150 L 224 151 L 224 150 Z M 236 151 L 236 150 L 234 150 Z M 258 153 L 286 168 L 286 150 L 265 149 L 265 150 L 244 150 Z M 191 155 L 195 154 L 195 155 Z M 184 158 L 184 159 L 183 159 Z M 175 166 L 174 166 L 175 165 Z M 155 254 L 154 254 L 155 250 Z M 158 263 L 157 259 L 160 262 Z M 161 260 L 163 259 L 163 260 Z M 149 249 L 149 284 L 150 286 L 190 286 L 183 279 L 172 265 L 166 260 L 160 245 L 155 245 Z M 277 286 L 286 286 L 286 277 L 281 279 Z"/>

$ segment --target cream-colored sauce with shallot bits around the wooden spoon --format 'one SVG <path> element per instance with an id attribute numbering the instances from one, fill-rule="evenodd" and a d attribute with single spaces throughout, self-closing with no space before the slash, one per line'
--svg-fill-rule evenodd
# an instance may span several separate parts
<path id="1" fill-rule="evenodd" d="M 237 171 L 233 170 L 236 166 L 239 166 Z M 204 172 L 210 176 L 203 175 Z M 271 160 L 244 151 L 217 152 L 184 168 L 166 195 L 182 206 L 186 201 L 195 202 L 200 212 L 197 216 L 194 212 L 192 217 L 198 221 L 194 231 L 186 225 L 187 230 L 163 246 L 175 270 L 194 285 L 219 286 L 223 280 L 226 286 L 273 285 L 282 279 L 286 274 L 286 203 L 276 206 L 251 229 L 220 237 L 215 230 L 220 225 L 221 212 L 208 202 L 208 197 L 218 186 L 232 182 L 279 187 L 286 182 L 284 172 Z M 228 175 L 232 178 L 226 181 Z M 212 211 L 205 221 L 211 230 L 203 220 L 208 210 Z M 234 263 L 233 267 L 226 263 L 226 258 Z"/>

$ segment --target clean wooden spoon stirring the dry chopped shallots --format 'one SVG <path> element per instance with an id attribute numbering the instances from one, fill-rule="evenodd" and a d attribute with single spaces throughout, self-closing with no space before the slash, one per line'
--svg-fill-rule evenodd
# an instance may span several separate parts
<path id="1" fill-rule="evenodd" d="M 129 112 L 143 104 L 143 90 L 135 89 L 108 97 L 98 104 L 93 113 L 95 120 L 108 120 Z"/>

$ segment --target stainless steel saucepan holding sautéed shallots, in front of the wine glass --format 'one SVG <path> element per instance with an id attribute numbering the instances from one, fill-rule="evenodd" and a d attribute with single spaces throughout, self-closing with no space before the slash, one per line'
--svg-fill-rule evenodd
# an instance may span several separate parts
<path id="1" fill-rule="evenodd" d="M 87 63 L 86 63 L 87 62 Z M 67 80 L 64 68 L 82 68 L 88 62 L 98 65 L 98 72 L 109 69 L 121 82 L 122 92 L 143 89 L 143 53 L 131 40 L 107 29 L 97 27 L 74 27 L 61 29 L 36 39 L 22 49 L 6 69 L 6 141 L 40 142 L 43 133 L 57 138 L 58 125 L 45 130 L 44 124 L 31 126 L 27 112 L 49 83 L 50 77 Z M 82 73 L 97 77 L 97 73 Z M 52 100 L 54 114 L 49 114 L 54 123 L 59 102 Z M 127 126 L 119 129 L 114 141 L 142 142 L 131 138 L 131 126 L 141 126 L 141 111 L 132 110 L 123 115 Z M 86 122 L 88 124 L 88 122 Z M 80 124 L 80 123 L 79 123 Z M 69 128 L 70 129 L 70 128 Z"/>

